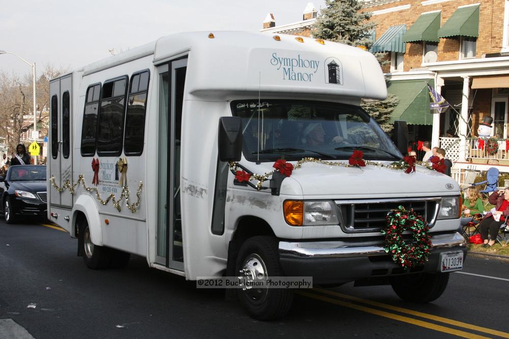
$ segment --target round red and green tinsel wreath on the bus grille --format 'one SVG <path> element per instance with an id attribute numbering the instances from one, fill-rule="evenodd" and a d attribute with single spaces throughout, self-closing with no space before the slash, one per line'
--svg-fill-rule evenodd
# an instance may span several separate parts
<path id="1" fill-rule="evenodd" d="M 406 210 L 403 206 L 391 210 L 386 216 L 387 225 L 381 233 L 385 237 L 384 250 L 392 261 L 405 269 L 422 265 L 430 256 L 432 246 L 430 228 L 422 216 L 413 208 Z M 403 232 L 412 232 L 412 243 L 403 240 Z"/>

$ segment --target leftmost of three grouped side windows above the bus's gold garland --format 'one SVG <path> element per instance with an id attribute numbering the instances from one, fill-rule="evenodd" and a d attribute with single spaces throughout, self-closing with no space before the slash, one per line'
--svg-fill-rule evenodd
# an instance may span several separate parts
<path id="1" fill-rule="evenodd" d="M 93 157 L 95 155 L 100 93 L 101 84 L 91 85 L 87 88 L 83 125 L 81 126 L 81 156 L 83 157 Z"/>

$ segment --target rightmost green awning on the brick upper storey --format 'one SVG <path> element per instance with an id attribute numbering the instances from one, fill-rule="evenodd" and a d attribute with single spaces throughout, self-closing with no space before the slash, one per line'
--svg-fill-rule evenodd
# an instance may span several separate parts
<path id="1" fill-rule="evenodd" d="M 438 30 L 439 38 L 479 36 L 479 5 L 458 8 Z"/>

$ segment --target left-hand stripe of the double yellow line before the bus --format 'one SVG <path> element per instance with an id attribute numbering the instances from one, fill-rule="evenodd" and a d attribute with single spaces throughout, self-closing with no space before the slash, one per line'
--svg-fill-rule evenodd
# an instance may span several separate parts
<path id="1" fill-rule="evenodd" d="M 435 330 L 435 331 L 440 331 L 440 332 L 444 332 L 444 333 L 448 333 L 448 334 L 458 335 L 458 336 L 461 336 L 461 337 L 464 337 L 464 338 L 475 338 L 475 339 L 477 339 L 477 338 L 483 338 L 483 339 L 484 338 L 488 338 L 487 336 L 482 336 L 482 335 L 473 334 L 473 333 L 465 332 L 465 331 L 454 329 L 454 328 L 449 328 L 449 327 L 445 327 L 445 326 L 441 326 L 441 325 L 436 325 L 436 324 L 429 323 L 429 322 L 426 322 L 426 321 L 417 320 L 417 319 L 413 319 L 413 318 L 409 318 L 409 317 L 405 317 L 405 316 L 400 316 L 398 314 L 393 314 L 393 313 L 389 313 L 389 312 L 385 312 L 385 311 L 371 309 L 370 307 L 357 305 L 357 304 L 354 304 L 354 303 L 351 303 L 351 302 L 347 302 L 347 301 L 342 301 L 342 300 L 328 298 L 326 296 L 322 296 L 322 295 L 319 295 L 319 294 L 313 294 L 313 293 L 302 292 L 302 291 L 298 291 L 297 293 L 300 294 L 300 295 L 309 297 L 309 298 L 313 298 L 313 299 L 317 299 L 317 300 L 333 303 L 333 304 L 336 304 L 336 305 L 341 305 L 341 306 L 344 306 L 344 307 L 349 307 L 350 309 L 354 309 L 354 310 L 358 310 L 358 311 L 362 311 L 362 312 L 366 312 L 366 313 L 371 313 L 371 314 L 374 314 L 374 315 L 377 315 L 377 316 L 380 316 L 380 317 L 385 317 L 385 318 L 389 318 L 389 319 L 393 319 L 393 320 L 402 321 L 402 322 L 405 322 L 405 323 L 408 323 L 408 324 L 412 324 L 412 325 L 416 325 L 416 326 L 420 326 L 420 327 L 429 328 L 429 329 L 432 329 L 432 330 Z"/>

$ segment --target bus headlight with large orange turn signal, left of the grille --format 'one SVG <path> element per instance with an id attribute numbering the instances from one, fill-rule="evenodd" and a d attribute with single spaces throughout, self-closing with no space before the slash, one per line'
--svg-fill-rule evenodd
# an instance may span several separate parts
<path id="1" fill-rule="evenodd" d="M 295 201 L 283 204 L 286 222 L 291 226 L 339 225 L 333 201 Z"/>

